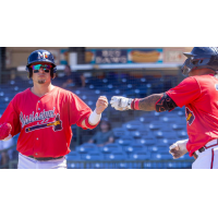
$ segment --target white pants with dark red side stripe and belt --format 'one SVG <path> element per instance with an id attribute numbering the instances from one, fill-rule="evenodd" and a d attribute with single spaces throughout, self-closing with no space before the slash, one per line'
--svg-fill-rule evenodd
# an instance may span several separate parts
<path id="1" fill-rule="evenodd" d="M 196 152 L 198 157 L 192 169 L 218 169 L 218 140 L 210 141 L 204 148 L 203 153 Z"/>

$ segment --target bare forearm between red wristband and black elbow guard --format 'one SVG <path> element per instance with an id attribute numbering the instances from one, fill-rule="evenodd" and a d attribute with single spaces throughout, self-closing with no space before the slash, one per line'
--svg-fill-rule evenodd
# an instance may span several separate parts
<path id="1" fill-rule="evenodd" d="M 164 95 L 164 93 L 154 94 L 154 95 L 147 96 L 146 98 L 142 98 L 138 104 L 140 110 L 144 110 L 144 111 L 155 110 L 155 105 L 162 95 Z"/>

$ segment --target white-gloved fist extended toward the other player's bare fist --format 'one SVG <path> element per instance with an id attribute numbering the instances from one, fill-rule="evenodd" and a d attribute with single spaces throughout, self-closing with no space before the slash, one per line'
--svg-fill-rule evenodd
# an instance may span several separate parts
<path id="1" fill-rule="evenodd" d="M 111 107 L 114 108 L 116 110 L 131 110 L 131 104 L 133 99 L 132 98 L 124 98 L 122 96 L 113 96 L 111 98 Z"/>

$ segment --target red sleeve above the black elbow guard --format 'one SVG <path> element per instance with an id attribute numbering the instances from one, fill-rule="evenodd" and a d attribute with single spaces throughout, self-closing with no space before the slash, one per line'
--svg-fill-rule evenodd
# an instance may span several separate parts
<path id="1" fill-rule="evenodd" d="M 166 94 L 179 106 L 193 102 L 201 95 L 201 87 L 197 81 L 191 76 L 182 81 L 178 86 L 169 89 Z"/>

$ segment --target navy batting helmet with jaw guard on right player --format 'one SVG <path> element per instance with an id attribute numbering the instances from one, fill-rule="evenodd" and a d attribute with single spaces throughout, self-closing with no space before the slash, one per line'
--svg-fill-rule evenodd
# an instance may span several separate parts
<path id="1" fill-rule="evenodd" d="M 182 65 L 182 73 L 189 75 L 195 69 L 211 69 L 218 71 L 218 48 L 217 47 L 194 47 L 191 52 L 184 52 L 187 59 Z"/>

